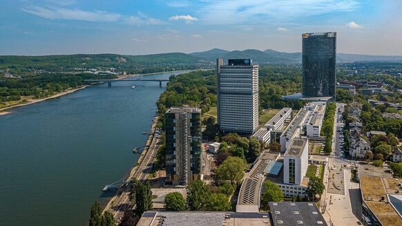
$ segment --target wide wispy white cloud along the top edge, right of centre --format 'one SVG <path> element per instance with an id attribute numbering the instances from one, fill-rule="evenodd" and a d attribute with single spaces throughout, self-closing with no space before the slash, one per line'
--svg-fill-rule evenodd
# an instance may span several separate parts
<path id="1" fill-rule="evenodd" d="M 360 0 L 204 0 L 198 10 L 200 21 L 209 24 L 266 23 L 294 21 L 332 12 L 350 12 Z M 236 19 L 235 19 L 236 18 Z"/>

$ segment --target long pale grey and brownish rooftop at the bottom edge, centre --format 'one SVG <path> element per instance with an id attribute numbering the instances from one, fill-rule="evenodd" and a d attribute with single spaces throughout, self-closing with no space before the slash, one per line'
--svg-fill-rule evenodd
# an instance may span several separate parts
<path id="1" fill-rule="evenodd" d="M 137 226 L 269 226 L 267 213 L 233 213 L 216 211 L 146 211 Z"/>

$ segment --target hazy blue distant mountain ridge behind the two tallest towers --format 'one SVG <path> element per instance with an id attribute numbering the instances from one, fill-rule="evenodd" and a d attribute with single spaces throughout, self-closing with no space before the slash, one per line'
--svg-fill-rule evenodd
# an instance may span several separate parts
<path id="1" fill-rule="evenodd" d="M 217 58 L 222 57 L 224 60 L 229 58 L 251 58 L 253 62 L 259 64 L 291 64 L 301 62 L 301 53 L 285 53 L 276 50 L 267 49 L 264 51 L 247 49 L 247 50 L 222 50 L 213 48 L 204 52 L 189 53 L 194 57 L 200 57 L 207 61 L 214 62 Z M 359 55 L 350 53 L 338 53 L 337 62 L 385 62 L 394 61 L 402 62 L 402 56 L 381 56 L 381 55 Z"/>

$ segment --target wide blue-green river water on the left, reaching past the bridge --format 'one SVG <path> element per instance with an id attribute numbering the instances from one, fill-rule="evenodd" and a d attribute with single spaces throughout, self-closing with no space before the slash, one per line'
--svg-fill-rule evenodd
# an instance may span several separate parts
<path id="1" fill-rule="evenodd" d="M 0 116 L 0 225 L 86 225 L 102 188 L 135 165 L 163 91 L 100 84 Z"/>

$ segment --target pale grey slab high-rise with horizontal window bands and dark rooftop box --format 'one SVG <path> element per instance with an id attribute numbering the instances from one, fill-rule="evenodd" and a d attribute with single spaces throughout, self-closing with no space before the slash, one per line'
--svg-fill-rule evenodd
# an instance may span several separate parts
<path id="1" fill-rule="evenodd" d="M 258 129 L 258 65 L 251 59 L 217 60 L 218 125 L 223 133 Z"/>

